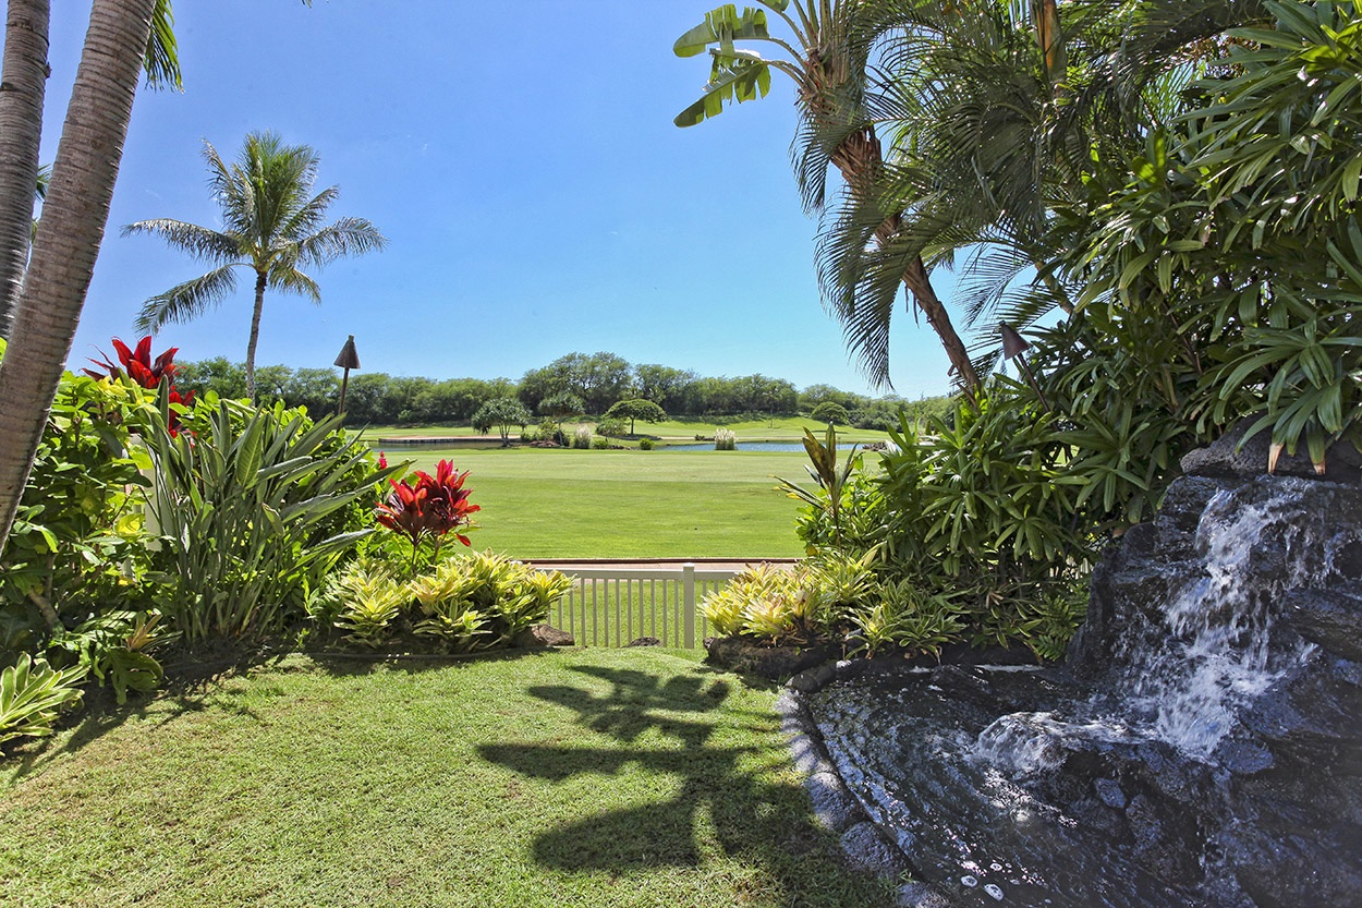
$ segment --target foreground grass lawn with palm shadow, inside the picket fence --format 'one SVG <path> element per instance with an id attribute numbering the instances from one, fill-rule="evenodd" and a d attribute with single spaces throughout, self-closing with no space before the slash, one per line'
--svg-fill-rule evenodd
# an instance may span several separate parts
<path id="1" fill-rule="evenodd" d="M 15 908 L 891 904 L 847 871 L 775 694 L 661 650 L 302 656 L 0 761 Z"/>

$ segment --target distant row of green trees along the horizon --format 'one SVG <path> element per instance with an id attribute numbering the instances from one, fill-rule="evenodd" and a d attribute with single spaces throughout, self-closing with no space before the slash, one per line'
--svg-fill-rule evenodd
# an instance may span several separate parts
<path id="1" fill-rule="evenodd" d="M 221 356 L 180 363 L 177 383 L 199 394 L 248 397 L 245 364 Z M 306 406 L 312 414 L 334 410 L 340 395 L 340 376 L 334 368 L 260 365 L 255 368 L 255 384 L 259 401 Z M 701 376 L 691 369 L 631 364 L 614 353 L 569 353 L 527 371 L 519 382 L 355 372 L 346 389 L 346 424 L 470 424 L 474 413 L 498 398 L 516 399 L 531 414 L 554 419 L 602 416 L 614 404 L 637 398 L 656 404 L 673 417 L 719 421 L 808 414 L 832 404 L 844 412 L 840 424 L 858 428 L 898 425 L 904 409 L 936 412 L 948 406 L 945 398 L 911 402 L 892 394 L 872 398 L 831 384 L 810 384 L 801 391 L 786 379 L 764 375 Z"/>

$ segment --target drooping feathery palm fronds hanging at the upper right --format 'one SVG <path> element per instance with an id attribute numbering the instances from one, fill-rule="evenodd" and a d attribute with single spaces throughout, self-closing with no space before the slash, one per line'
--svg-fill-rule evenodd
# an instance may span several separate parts
<path id="1" fill-rule="evenodd" d="M 820 237 L 823 292 L 849 335 L 887 354 L 904 262 L 963 273 L 966 322 L 987 326 L 978 372 L 992 369 L 998 318 L 1072 311 L 1054 267 L 1068 239 L 1057 206 L 1081 209 L 1103 179 L 1124 180 L 1177 115 L 1203 42 L 1257 15 L 1252 0 L 865 0 L 854 42 L 878 65 L 806 142 L 888 136 L 873 185 L 844 194 Z M 1038 279 L 1019 286 L 1030 271 Z"/>

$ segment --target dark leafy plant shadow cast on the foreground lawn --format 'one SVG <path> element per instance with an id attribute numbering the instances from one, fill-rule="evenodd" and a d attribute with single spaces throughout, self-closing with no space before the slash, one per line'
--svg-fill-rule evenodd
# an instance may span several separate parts
<path id="1" fill-rule="evenodd" d="M 573 667 L 571 671 L 607 682 L 609 693 L 584 687 L 541 686 L 530 694 L 565 706 L 577 721 L 606 735 L 617 746 L 485 744 L 479 754 L 494 763 L 535 778 L 563 781 L 580 774 L 647 774 L 680 780 L 674 795 L 568 822 L 541 833 L 534 859 L 568 871 L 627 873 L 673 866 L 699 867 L 718 849 L 761 867 L 785 890 L 783 900 L 799 905 L 878 904 L 883 889 L 868 878 L 851 878 L 835 856 L 835 840 L 812 819 L 808 798 L 797 783 L 776 783 L 741 766 L 744 757 L 760 759 L 765 746 L 727 746 L 720 739 L 740 725 L 727 712 L 716 714 L 733 693 L 727 680 L 703 671 L 671 676 L 635 669 Z M 771 733 L 779 721 L 752 721 L 746 731 Z M 674 744 L 669 746 L 669 740 Z M 774 754 L 776 762 L 783 757 Z M 603 778 L 602 800 L 610 781 Z M 782 901 L 786 904 L 786 901 Z"/>

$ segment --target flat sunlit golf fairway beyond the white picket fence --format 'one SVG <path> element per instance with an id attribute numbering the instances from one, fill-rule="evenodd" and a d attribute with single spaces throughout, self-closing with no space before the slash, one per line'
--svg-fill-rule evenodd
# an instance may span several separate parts
<path id="1" fill-rule="evenodd" d="M 400 457 L 426 470 L 444 457 L 469 470 L 470 500 L 482 506 L 473 544 L 512 558 L 804 554 L 798 503 L 771 479 L 809 481 L 802 453 L 516 447 Z"/>

